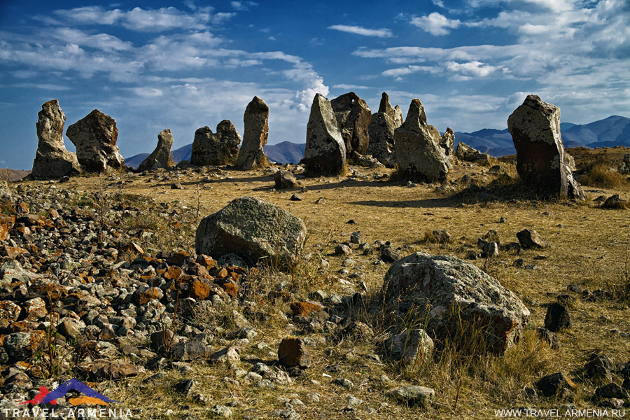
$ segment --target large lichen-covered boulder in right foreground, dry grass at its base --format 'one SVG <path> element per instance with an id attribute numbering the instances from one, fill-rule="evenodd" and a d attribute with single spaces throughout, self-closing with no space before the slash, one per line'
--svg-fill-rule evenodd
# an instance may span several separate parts
<path id="1" fill-rule="evenodd" d="M 526 326 L 529 311 L 510 290 L 476 265 L 417 252 L 395 261 L 385 275 L 383 302 L 414 319 L 438 343 L 482 337 L 486 351 L 503 353 Z"/>

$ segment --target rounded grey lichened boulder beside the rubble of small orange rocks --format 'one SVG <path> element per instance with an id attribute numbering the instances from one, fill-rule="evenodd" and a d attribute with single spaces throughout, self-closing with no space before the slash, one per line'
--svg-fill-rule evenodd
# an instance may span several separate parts
<path id="1" fill-rule="evenodd" d="M 235 253 L 253 265 L 260 258 L 289 265 L 302 251 L 306 227 L 297 217 L 255 197 L 240 197 L 204 218 L 195 237 L 197 254 Z"/>

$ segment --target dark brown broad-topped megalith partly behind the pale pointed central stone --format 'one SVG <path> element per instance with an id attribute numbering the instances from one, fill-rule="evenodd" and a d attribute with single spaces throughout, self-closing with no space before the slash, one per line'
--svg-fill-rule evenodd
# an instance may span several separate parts
<path id="1" fill-rule="evenodd" d="M 367 127 L 372 119 L 372 110 L 358 94 L 349 92 L 330 101 L 335 112 L 337 127 L 346 145 L 346 158 L 353 151 L 365 155 L 370 144 Z"/>

